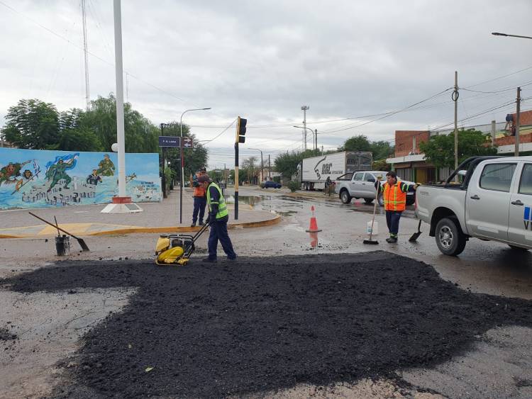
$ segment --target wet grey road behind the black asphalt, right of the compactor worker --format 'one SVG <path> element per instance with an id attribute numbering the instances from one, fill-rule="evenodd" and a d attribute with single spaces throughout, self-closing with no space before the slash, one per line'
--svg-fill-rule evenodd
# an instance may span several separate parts
<path id="1" fill-rule="evenodd" d="M 272 189 L 240 189 L 240 203 L 257 209 L 271 210 L 283 215 L 283 222 L 272 227 L 249 230 L 248 240 L 237 245 L 245 254 L 301 254 L 301 252 L 363 252 L 382 249 L 411 257 L 435 267 L 440 276 L 474 292 L 532 299 L 532 252 L 510 249 L 499 242 L 472 239 L 459 257 L 440 253 L 434 237 L 428 236 L 429 226 L 421 224 L 423 234 L 417 242 L 409 237 L 417 231 L 419 220 L 414 218 L 414 207 L 408 207 L 399 225 L 399 242 L 389 245 L 384 209 L 377 206 L 379 245 L 363 245 L 365 229 L 371 220 L 373 206 L 363 201 L 341 203 L 338 198 L 292 196 L 287 191 Z M 316 235 L 305 232 L 309 228 L 311 206 L 316 209 Z M 233 215 L 231 215 L 232 217 Z M 234 230 L 233 230 L 234 231 Z M 238 232 L 232 233 L 238 236 Z M 252 238 L 254 237 L 254 238 Z"/>

